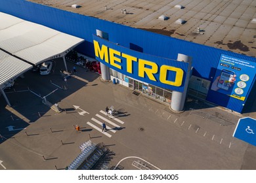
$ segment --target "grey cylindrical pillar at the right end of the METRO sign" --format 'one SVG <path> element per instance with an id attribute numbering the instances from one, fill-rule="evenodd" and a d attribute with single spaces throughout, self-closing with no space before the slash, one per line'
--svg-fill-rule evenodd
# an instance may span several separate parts
<path id="1" fill-rule="evenodd" d="M 183 92 L 173 91 L 171 95 L 171 109 L 175 112 L 182 112 L 186 101 L 186 93 L 188 92 L 188 82 L 190 78 L 192 58 L 183 54 L 178 54 L 177 61 L 184 61 L 189 63 L 188 71 L 186 71 L 186 80 L 184 82 Z"/>

